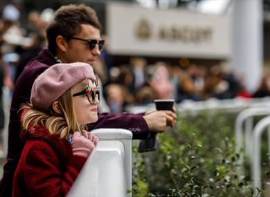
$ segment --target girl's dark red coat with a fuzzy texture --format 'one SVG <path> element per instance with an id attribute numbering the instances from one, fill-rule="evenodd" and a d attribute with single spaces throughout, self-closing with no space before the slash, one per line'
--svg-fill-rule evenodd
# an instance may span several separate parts
<path id="1" fill-rule="evenodd" d="M 13 180 L 12 196 L 65 196 L 87 158 L 74 156 L 71 144 L 43 126 L 21 135 L 26 141 Z"/>

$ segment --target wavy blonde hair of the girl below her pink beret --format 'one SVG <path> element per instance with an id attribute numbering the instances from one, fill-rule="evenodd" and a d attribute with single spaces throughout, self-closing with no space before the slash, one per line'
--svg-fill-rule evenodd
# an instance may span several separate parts
<path id="1" fill-rule="evenodd" d="M 23 131 L 26 132 L 30 126 L 41 124 L 49 133 L 60 135 L 60 138 L 69 138 L 71 131 L 84 129 L 85 124 L 78 124 L 71 94 L 70 88 L 57 100 L 61 107 L 61 114 L 56 113 L 52 106 L 48 111 L 39 111 L 32 104 L 23 104 L 19 109 L 19 111 L 26 110 L 21 120 Z"/>

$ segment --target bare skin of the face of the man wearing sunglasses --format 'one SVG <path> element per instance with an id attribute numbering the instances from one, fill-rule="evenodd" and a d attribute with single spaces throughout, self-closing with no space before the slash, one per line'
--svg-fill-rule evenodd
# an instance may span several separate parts
<path id="1" fill-rule="evenodd" d="M 82 24 L 81 27 L 82 30 L 77 35 L 74 35 L 75 38 L 79 39 L 70 39 L 67 43 L 66 53 L 64 54 L 65 62 L 84 62 L 93 66 L 96 57 L 100 55 L 98 44 L 90 50 L 87 41 L 80 39 L 100 40 L 100 30 L 87 24 Z"/>

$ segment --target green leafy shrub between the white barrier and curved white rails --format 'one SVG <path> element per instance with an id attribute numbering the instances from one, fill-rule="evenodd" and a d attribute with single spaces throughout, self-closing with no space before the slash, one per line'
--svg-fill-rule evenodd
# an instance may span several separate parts
<path id="1" fill-rule="evenodd" d="M 174 129 L 159 135 L 159 149 L 134 149 L 133 196 L 258 196 L 237 172 L 235 114 L 203 111 L 179 115 Z M 243 171 L 243 170 L 242 170 Z"/>

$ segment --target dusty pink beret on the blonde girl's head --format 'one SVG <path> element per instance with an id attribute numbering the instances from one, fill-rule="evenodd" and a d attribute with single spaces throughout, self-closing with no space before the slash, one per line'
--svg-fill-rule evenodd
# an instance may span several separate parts
<path id="1" fill-rule="evenodd" d="M 86 63 L 55 64 L 39 75 L 32 86 L 30 102 L 46 111 L 69 88 L 84 79 L 96 79 L 93 68 Z"/>

